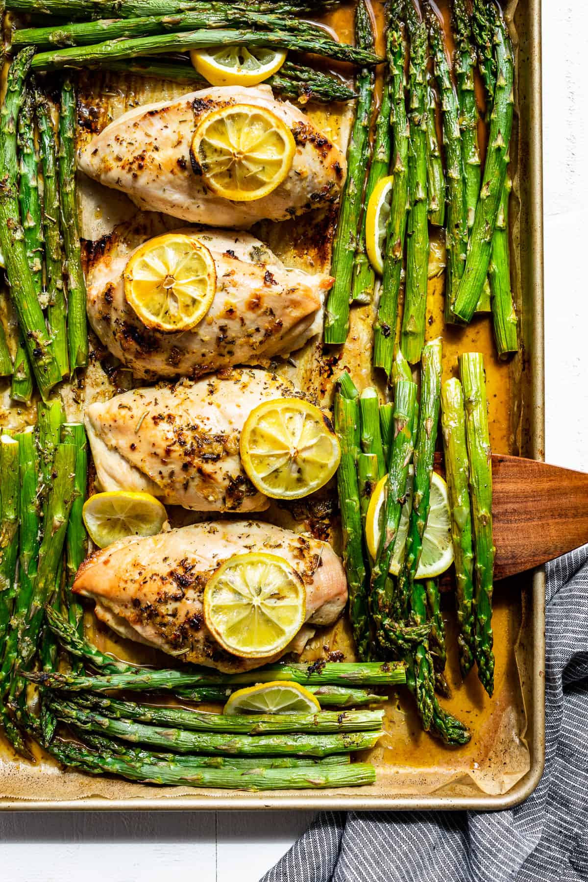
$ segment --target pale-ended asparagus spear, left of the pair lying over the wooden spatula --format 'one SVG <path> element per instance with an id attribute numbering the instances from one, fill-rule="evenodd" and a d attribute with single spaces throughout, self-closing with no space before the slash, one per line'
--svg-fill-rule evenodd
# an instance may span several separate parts
<path id="1" fill-rule="evenodd" d="M 441 387 L 441 427 L 455 563 L 459 668 L 465 677 L 474 655 L 473 550 L 464 392 L 458 379 L 446 380 Z"/>

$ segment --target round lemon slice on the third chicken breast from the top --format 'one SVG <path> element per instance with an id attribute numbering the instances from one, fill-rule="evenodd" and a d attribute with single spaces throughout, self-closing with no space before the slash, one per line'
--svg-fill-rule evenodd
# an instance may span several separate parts
<path id="1" fill-rule="evenodd" d="M 240 452 L 249 481 L 273 499 L 300 499 L 323 487 L 341 457 L 323 411 L 298 398 L 255 407 L 242 428 Z"/>

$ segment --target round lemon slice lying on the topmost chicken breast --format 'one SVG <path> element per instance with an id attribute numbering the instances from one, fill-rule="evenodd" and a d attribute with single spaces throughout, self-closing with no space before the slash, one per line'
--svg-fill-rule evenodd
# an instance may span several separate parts
<path id="1" fill-rule="evenodd" d="M 287 124 L 252 104 L 227 105 L 206 114 L 191 146 L 206 185 L 234 202 L 274 191 L 290 171 L 295 150 Z"/>

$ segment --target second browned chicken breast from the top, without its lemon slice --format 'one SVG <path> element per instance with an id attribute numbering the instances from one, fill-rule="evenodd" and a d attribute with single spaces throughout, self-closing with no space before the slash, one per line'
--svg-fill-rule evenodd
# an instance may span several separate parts
<path id="1" fill-rule="evenodd" d="M 110 352 L 139 377 L 197 377 L 234 364 L 264 364 L 288 355 L 320 331 L 331 277 L 286 269 L 249 233 L 196 233 L 212 253 L 217 288 L 208 313 L 190 331 L 145 327 L 124 296 L 131 254 L 152 238 L 149 221 L 116 230 L 100 243 L 87 275 L 88 318 Z"/>

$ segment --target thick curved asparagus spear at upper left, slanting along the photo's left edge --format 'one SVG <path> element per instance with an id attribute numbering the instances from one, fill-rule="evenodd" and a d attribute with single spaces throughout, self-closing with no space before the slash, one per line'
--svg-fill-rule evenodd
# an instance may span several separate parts
<path id="1" fill-rule="evenodd" d="M 0 246 L 6 261 L 11 298 L 19 316 L 26 352 L 45 398 L 61 379 L 45 319 L 37 299 L 28 260 L 24 230 L 19 220 L 16 123 L 24 98 L 23 87 L 33 49 L 24 49 L 12 62 L 0 111 Z"/>

